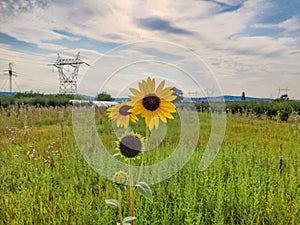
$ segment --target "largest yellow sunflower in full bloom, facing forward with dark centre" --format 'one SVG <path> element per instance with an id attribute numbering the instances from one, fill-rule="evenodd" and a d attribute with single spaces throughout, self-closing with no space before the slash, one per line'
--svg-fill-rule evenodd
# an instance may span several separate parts
<path id="1" fill-rule="evenodd" d="M 164 123 L 168 119 L 174 119 L 171 113 L 176 112 L 175 105 L 171 102 L 176 99 L 171 87 L 164 88 L 163 80 L 155 89 L 155 79 L 142 80 L 139 82 L 139 90 L 130 88 L 133 96 L 129 96 L 132 101 L 130 112 L 136 115 L 141 114 L 145 118 L 146 126 L 152 130 L 158 128 L 159 119 Z"/>

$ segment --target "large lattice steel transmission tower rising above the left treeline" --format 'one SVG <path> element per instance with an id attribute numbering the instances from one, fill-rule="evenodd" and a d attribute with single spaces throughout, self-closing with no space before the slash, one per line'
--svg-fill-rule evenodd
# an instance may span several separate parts
<path id="1" fill-rule="evenodd" d="M 90 66 L 88 63 L 82 61 L 79 58 L 80 52 L 77 53 L 76 58 L 61 58 L 59 54 L 57 54 L 56 62 L 53 64 L 49 64 L 51 66 L 55 66 L 58 70 L 59 75 L 59 93 L 60 94 L 77 94 L 77 77 L 79 72 L 79 66 L 81 64 L 85 64 Z M 73 71 L 69 74 L 66 74 L 64 71 L 68 71 L 65 69 L 65 66 L 68 68 L 71 66 Z"/>

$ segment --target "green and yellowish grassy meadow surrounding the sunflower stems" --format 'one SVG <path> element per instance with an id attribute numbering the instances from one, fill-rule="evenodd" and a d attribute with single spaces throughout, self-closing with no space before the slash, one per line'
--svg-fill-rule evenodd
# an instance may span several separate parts
<path id="1" fill-rule="evenodd" d="M 105 204 L 118 198 L 117 188 L 83 159 L 72 132 L 72 107 L 10 107 L 0 114 L 0 224 L 118 222 L 117 211 Z M 199 118 L 194 155 L 176 175 L 151 185 L 153 202 L 136 196 L 136 224 L 299 224 L 299 120 L 229 114 L 221 149 L 200 172 L 210 114 L 201 112 Z M 101 109 L 96 123 L 113 148 Z M 170 123 L 166 140 L 153 153 L 156 160 L 176 142 L 176 126 Z M 128 215 L 128 207 L 122 210 Z"/>

